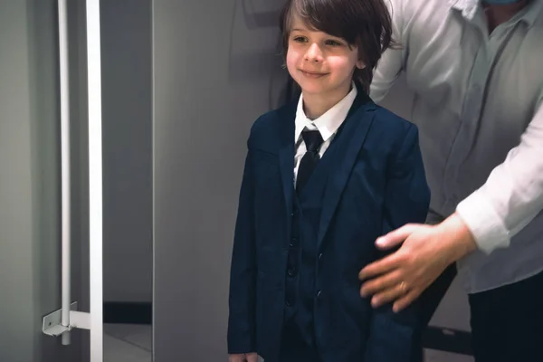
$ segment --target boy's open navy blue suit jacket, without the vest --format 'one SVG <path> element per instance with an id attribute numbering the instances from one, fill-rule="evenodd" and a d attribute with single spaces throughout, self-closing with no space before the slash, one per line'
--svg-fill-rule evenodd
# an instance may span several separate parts
<path id="1" fill-rule="evenodd" d="M 296 103 L 257 119 L 248 140 L 233 242 L 229 353 L 277 360 L 291 233 Z M 424 223 L 430 191 L 416 127 L 359 91 L 329 175 L 318 234 L 314 329 L 324 362 L 409 361 L 419 306 L 397 314 L 360 296 L 358 272 L 384 256 L 376 238 Z M 345 140 L 346 138 L 342 138 Z M 325 154 L 326 156 L 326 154 Z M 318 295 L 318 297 L 317 297 Z"/>

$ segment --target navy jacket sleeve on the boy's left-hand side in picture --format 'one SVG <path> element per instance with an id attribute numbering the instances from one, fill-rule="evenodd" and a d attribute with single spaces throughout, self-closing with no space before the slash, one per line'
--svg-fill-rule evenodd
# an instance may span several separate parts
<path id="1" fill-rule="evenodd" d="M 256 260 L 251 137 L 245 158 L 233 237 L 227 343 L 229 354 L 255 351 Z"/>

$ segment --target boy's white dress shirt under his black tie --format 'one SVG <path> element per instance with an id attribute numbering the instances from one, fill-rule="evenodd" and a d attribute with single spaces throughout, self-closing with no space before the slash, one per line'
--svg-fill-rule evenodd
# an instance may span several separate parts
<path id="1" fill-rule="evenodd" d="M 322 157 L 326 150 L 329 148 L 332 139 L 336 135 L 339 126 L 347 118 L 348 111 L 350 110 L 353 102 L 357 98 L 357 87 L 353 83 L 352 89 L 348 92 L 343 100 L 339 100 L 338 103 L 329 109 L 326 113 L 320 116 L 318 119 L 307 118 L 303 110 L 303 94 L 300 95 L 298 100 L 298 109 L 296 110 L 294 139 L 296 140 L 295 148 L 296 154 L 294 156 L 294 185 L 296 185 L 296 178 L 298 177 L 298 168 L 300 167 L 301 157 L 305 155 L 307 148 L 303 138 L 301 138 L 301 131 L 303 129 L 318 129 L 320 136 L 323 139 L 322 145 L 319 148 L 319 156 Z"/>

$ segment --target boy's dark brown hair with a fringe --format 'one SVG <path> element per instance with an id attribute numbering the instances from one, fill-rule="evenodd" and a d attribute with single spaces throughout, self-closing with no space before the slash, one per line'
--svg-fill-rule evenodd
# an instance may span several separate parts
<path id="1" fill-rule="evenodd" d="M 289 48 L 292 17 L 297 14 L 311 29 L 358 47 L 358 59 L 366 68 L 356 69 L 353 78 L 369 93 L 377 62 L 386 49 L 395 47 L 392 19 L 385 1 L 287 0 L 280 18 L 283 57 Z"/>

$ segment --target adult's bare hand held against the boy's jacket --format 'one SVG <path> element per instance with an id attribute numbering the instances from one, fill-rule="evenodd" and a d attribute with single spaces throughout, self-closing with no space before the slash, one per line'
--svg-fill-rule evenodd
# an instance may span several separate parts
<path id="1" fill-rule="evenodd" d="M 367 265 L 358 275 L 366 280 L 360 294 L 373 295 L 375 308 L 394 302 L 395 312 L 405 309 L 447 266 L 477 248 L 472 233 L 457 214 L 442 224 L 407 224 L 376 241 L 383 250 L 399 244 L 399 250 Z"/>

